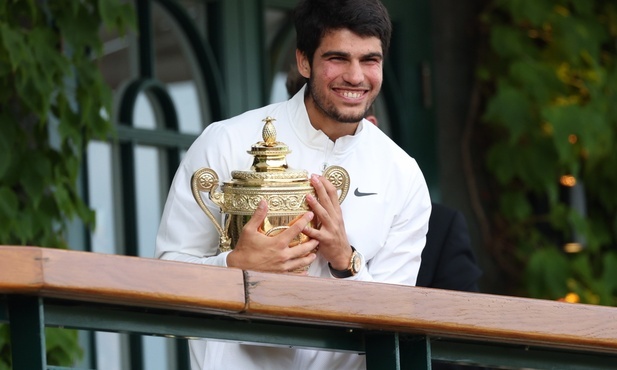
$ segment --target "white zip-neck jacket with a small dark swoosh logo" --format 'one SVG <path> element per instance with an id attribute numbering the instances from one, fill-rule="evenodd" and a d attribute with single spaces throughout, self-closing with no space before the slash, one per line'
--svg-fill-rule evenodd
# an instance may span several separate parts
<path id="1" fill-rule="evenodd" d="M 431 213 L 428 188 L 416 161 L 367 120 L 360 122 L 354 135 L 332 142 L 310 124 L 304 88 L 286 102 L 204 130 L 175 175 L 156 239 L 156 257 L 226 266 L 228 253 L 217 255 L 219 234 L 194 200 L 190 179 L 201 167 L 215 170 L 221 182 L 231 180 L 234 170 L 249 170 L 253 157 L 247 150 L 262 140 L 262 120 L 267 116 L 276 119 L 277 141 L 291 150 L 289 167 L 321 174 L 325 167 L 339 165 L 349 172 L 350 190 L 341 208 L 348 240 L 365 265 L 348 279 L 415 285 Z M 374 194 L 355 195 L 358 192 Z M 216 205 L 209 200 L 206 204 L 214 215 L 220 214 Z M 333 278 L 319 253 L 309 275 Z M 194 369 L 365 367 L 364 356 L 355 354 L 214 341 L 192 341 L 191 356 Z"/>

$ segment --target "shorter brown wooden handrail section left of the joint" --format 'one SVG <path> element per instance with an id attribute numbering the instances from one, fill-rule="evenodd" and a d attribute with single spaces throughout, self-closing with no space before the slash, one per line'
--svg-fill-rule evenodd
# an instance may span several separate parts
<path id="1" fill-rule="evenodd" d="M 245 306 L 238 269 L 33 247 L 0 247 L 0 261 L 0 292 L 197 312 Z"/>

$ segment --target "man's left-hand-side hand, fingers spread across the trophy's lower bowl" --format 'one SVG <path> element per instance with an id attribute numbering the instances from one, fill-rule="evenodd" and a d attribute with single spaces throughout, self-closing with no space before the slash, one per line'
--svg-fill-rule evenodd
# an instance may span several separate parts
<path id="1" fill-rule="evenodd" d="M 317 257 L 312 251 L 317 247 L 318 241 L 309 239 L 294 247 L 289 245 L 298 234 L 306 234 L 306 230 L 310 229 L 306 226 L 313 219 L 313 212 L 305 213 L 288 229 L 275 236 L 266 236 L 259 231 L 267 214 L 268 205 L 262 200 L 242 228 L 236 246 L 227 256 L 227 266 L 278 273 L 299 271 L 309 266 Z M 306 274 L 306 271 L 302 274 Z"/>

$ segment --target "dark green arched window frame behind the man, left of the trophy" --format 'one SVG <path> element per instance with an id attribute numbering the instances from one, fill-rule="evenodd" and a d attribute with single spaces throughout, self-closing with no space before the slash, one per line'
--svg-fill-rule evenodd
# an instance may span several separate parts
<path id="1" fill-rule="evenodd" d="M 166 189 L 172 181 L 179 163 L 181 151 L 188 148 L 196 135 L 179 132 L 178 114 L 173 100 L 166 87 L 155 79 L 154 70 L 154 40 L 152 29 L 152 6 L 158 4 L 178 25 L 192 56 L 195 59 L 196 74 L 201 78 L 205 95 L 209 99 L 207 106 L 209 115 L 214 120 L 226 115 L 226 94 L 221 72 L 218 68 L 214 52 L 210 44 L 200 36 L 195 24 L 186 10 L 177 1 L 172 0 L 136 0 L 137 27 L 139 43 L 137 45 L 138 75 L 120 92 L 118 101 L 117 139 L 118 165 L 120 166 L 122 194 L 122 220 L 124 251 L 127 255 L 138 255 L 138 223 L 136 204 L 135 149 L 138 145 L 151 145 L 160 148 L 166 164 L 163 173 L 166 174 Z M 145 93 L 160 112 L 160 122 L 163 130 L 146 130 L 133 126 L 133 114 L 137 98 Z M 92 340 L 93 337 L 92 337 Z M 130 358 L 132 370 L 143 369 L 142 340 L 139 336 L 129 337 Z M 180 369 L 188 369 L 188 350 L 186 341 L 176 343 L 177 365 Z"/>

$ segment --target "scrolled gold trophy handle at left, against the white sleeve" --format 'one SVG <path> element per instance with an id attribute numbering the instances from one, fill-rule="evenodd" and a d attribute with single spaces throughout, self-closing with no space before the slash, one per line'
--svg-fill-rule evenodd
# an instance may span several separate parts
<path id="1" fill-rule="evenodd" d="M 210 212 L 203 199 L 201 198 L 200 192 L 208 193 L 208 197 L 219 207 L 222 204 L 222 194 L 216 193 L 215 190 L 219 186 L 219 177 L 216 172 L 210 168 L 200 168 L 191 177 L 191 191 L 193 192 L 193 197 L 197 201 L 197 204 L 201 208 L 202 211 L 208 216 L 210 221 L 214 224 L 216 229 L 220 235 L 220 249 L 221 251 L 230 250 L 229 246 L 231 244 L 231 240 L 227 236 L 227 233 L 221 225 L 219 225 L 218 221 Z"/>

